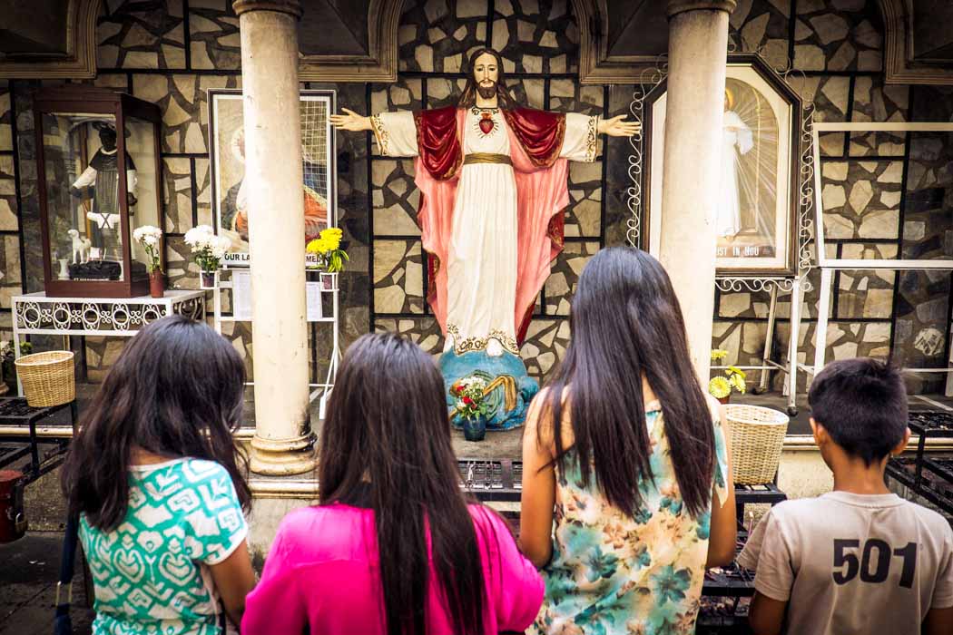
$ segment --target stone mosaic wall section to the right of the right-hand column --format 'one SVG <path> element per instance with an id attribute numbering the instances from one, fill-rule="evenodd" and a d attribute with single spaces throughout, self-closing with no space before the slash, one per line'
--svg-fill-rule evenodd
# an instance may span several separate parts
<path id="1" fill-rule="evenodd" d="M 791 7 L 795 8 L 793 19 Z M 923 87 L 884 86 L 882 19 L 863 0 L 746 0 L 731 16 L 738 50 L 760 50 L 813 101 L 817 121 L 947 121 L 953 105 Z M 942 92 L 932 90 L 933 93 Z M 929 107 L 927 112 L 923 108 Z M 948 258 L 951 135 L 821 135 L 821 189 L 829 256 Z M 909 158 L 907 158 L 909 157 Z M 820 276 L 805 297 L 799 357 L 812 362 Z M 872 355 L 905 367 L 946 367 L 950 276 L 944 272 L 851 271 L 835 276 L 826 359 Z M 767 293 L 721 293 L 714 346 L 756 365 L 764 347 Z M 786 350 L 790 301 L 779 303 L 776 359 Z M 773 386 L 781 387 L 780 373 Z M 752 375 L 752 379 L 759 379 Z M 911 376 L 915 392 L 943 389 L 943 375 Z M 801 386 L 803 377 L 801 377 Z"/>

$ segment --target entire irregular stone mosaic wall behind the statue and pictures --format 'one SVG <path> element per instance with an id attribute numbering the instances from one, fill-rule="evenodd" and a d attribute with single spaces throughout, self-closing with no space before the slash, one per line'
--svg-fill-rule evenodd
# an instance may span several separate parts
<path id="1" fill-rule="evenodd" d="M 813 100 L 818 121 L 948 120 L 948 89 L 884 86 L 882 24 L 863 0 L 739 0 L 730 17 L 732 50 L 760 50 Z M 131 92 L 163 112 L 163 199 L 172 285 L 193 288 L 182 235 L 212 221 L 206 91 L 238 88 L 237 18 L 229 0 L 108 0 L 97 31 L 97 86 Z M 508 86 L 537 108 L 601 113 L 629 109 L 632 86 L 578 84 L 578 25 L 568 0 L 406 0 L 400 20 L 399 76 L 390 85 L 312 85 L 337 89 L 338 103 L 359 112 L 419 109 L 456 102 L 465 60 L 477 47 L 502 50 Z M 9 297 L 42 288 L 38 248 L 36 166 L 31 93 L 60 81 L 0 82 L 0 337 L 8 337 Z M 429 281 L 419 242 L 412 161 L 380 157 L 370 134 L 337 136 L 340 224 L 351 254 L 343 276 L 342 328 L 347 344 L 369 329 L 397 330 L 438 352 L 443 346 L 424 298 Z M 573 164 L 566 248 L 540 293 L 536 319 L 522 348 L 531 373 L 544 376 L 568 342 L 568 303 L 578 273 L 598 248 L 624 243 L 628 210 L 627 140 L 609 139 L 597 163 Z M 842 257 L 949 257 L 953 205 L 949 135 L 821 137 L 821 175 L 829 252 Z M 16 180 L 18 175 L 19 180 Z M 26 245 L 26 253 L 20 246 Z M 21 279 L 21 260 L 26 278 Z M 812 275 L 815 287 L 819 278 Z M 842 273 L 836 280 L 828 332 L 828 359 L 893 354 L 902 364 L 945 367 L 948 352 L 949 275 Z M 801 359 L 813 359 L 817 291 L 807 295 L 798 334 Z M 760 360 L 769 298 L 766 293 L 722 293 L 713 345 L 730 361 Z M 229 298 L 225 299 L 226 308 Z M 779 303 L 775 348 L 786 349 L 789 299 Z M 248 325 L 226 326 L 246 357 Z M 317 332 L 314 360 L 326 354 Z M 102 376 L 121 347 L 87 342 L 91 379 Z M 323 369 L 314 364 L 314 372 Z M 777 373 L 776 373 L 777 374 Z M 757 381 L 757 374 L 752 376 Z M 780 387 L 780 377 L 774 386 Z M 942 380 L 912 381 L 937 390 Z"/>

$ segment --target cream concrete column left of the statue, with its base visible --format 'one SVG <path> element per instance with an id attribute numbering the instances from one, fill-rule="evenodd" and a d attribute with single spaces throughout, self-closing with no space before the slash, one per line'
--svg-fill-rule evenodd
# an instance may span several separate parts
<path id="1" fill-rule="evenodd" d="M 252 257 L 252 470 L 314 469 L 305 322 L 298 0 L 236 0 Z"/>

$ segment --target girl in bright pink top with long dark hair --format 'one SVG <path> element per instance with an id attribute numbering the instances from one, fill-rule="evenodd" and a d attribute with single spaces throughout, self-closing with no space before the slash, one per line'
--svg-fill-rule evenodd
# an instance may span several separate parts
<path id="1" fill-rule="evenodd" d="M 375 333 L 348 350 L 318 478 L 321 504 L 278 528 L 243 635 L 483 635 L 536 618 L 542 580 L 464 498 L 443 379 L 415 344 Z"/>

